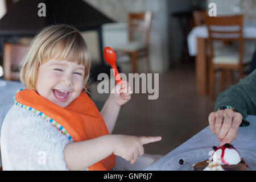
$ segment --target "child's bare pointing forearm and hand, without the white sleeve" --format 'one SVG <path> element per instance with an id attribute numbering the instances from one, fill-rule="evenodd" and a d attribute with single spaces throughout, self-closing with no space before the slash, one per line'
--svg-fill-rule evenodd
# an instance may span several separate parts
<path id="1" fill-rule="evenodd" d="M 67 144 L 64 148 L 64 160 L 68 169 L 80 170 L 88 168 L 114 153 L 133 164 L 138 156 L 144 154 L 143 144 L 161 139 L 160 137 L 104 135 L 82 142 Z"/>

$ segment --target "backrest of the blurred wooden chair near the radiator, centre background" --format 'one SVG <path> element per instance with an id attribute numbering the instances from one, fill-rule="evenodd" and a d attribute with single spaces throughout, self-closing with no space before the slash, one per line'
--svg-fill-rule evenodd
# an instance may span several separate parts
<path id="1" fill-rule="evenodd" d="M 137 39 L 134 32 L 141 32 L 144 44 L 148 45 L 150 38 L 150 26 L 152 20 L 152 12 L 144 11 L 142 13 L 129 13 L 128 15 L 128 35 L 129 42 Z M 139 35 L 141 36 L 141 35 Z"/>

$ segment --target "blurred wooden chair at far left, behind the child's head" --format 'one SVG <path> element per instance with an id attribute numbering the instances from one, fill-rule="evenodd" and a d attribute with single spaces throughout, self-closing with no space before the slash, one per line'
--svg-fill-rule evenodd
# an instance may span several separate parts
<path id="1" fill-rule="evenodd" d="M 6 43 L 3 54 L 3 74 L 5 80 L 19 81 L 19 64 L 28 51 L 28 45 Z"/>

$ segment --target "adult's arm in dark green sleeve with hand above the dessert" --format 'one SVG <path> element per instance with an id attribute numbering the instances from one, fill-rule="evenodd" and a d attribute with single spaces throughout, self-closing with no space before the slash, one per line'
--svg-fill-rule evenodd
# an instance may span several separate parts
<path id="1" fill-rule="evenodd" d="M 240 83 L 230 86 L 218 96 L 215 111 L 209 114 L 209 127 L 217 135 L 220 145 L 231 143 L 237 138 L 239 126 L 246 126 L 242 122 L 247 114 L 255 114 L 256 103 L 256 72 L 254 71 Z M 221 106 L 232 106 L 232 109 L 218 110 Z"/>

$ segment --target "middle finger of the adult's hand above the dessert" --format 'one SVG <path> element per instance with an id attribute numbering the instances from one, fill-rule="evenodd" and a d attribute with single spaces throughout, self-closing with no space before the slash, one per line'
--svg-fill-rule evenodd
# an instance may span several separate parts
<path id="1" fill-rule="evenodd" d="M 223 112 L 224 120 L 221 126 L 221 130 L 218 133 L 218 138 L 223 139 L 226 134 L 228 133 L 229 129 L 232 126 L 232 117 L 233 117 L 233 110 L 232 109 L 226 109 Z"/>

